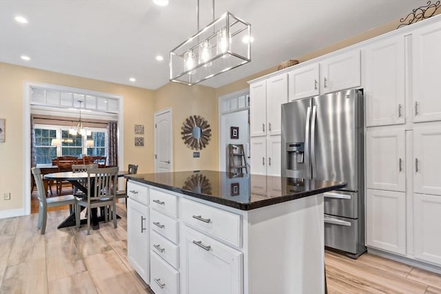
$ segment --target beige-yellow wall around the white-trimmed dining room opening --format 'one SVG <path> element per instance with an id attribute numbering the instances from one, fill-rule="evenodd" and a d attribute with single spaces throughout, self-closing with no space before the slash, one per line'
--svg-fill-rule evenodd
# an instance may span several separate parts
<path id="1" fill-rule="evenodd" d="M 137 87 L 80 78 L 44 70 L 0 63 L 0 118 L 6 118 L 6 143 L 0 143 L 0 211 L 23 209 L 23 84 L 24 81 L 120 94 L 124 96 L 124 166 L 139 165 L 139 172 L 152 172 L 153 146 L 134 147 L 134 124 L 145 125 L 145 140 L 153 140 L 154 92 Z M 11 200 L 3 200 L 10 192 Z"/>

